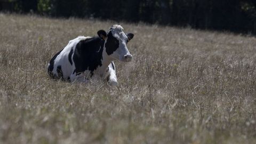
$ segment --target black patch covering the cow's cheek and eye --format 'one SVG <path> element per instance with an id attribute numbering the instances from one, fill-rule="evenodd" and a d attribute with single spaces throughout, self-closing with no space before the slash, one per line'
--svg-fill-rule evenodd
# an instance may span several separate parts
<path id="1" fill-rule="evenodd" d="M 111 31 L 108 33 L 108 39 L 105 47 L 108 55 L 114 53 L 114 51 L 119 47 L 119 41 L 112 35 Z"/>

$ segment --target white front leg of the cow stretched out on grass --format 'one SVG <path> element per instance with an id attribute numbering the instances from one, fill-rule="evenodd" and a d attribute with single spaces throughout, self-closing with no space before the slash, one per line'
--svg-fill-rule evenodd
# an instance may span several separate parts
<path id="1" fill-rule="evenodd" d="M 108 66 L 106 77 L 107 77 L 108 84 L 110 86 L 118 85 L 114 62 L 111 62 L 110 65 Z"/>

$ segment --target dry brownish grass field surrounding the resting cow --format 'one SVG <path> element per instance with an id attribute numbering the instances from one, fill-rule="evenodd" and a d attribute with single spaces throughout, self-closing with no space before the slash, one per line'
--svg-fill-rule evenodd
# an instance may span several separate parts
<path id="1" fill-rule="evenodd" d="M 0 143 L 256 143 L 256 38 L 118 22 L 119 85 L 51 79 L 70 39 L 113 21 L 0 14 Z"/>

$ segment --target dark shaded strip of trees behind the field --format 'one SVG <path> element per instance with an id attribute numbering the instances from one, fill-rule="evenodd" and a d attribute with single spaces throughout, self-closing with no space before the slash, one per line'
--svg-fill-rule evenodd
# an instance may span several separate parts
<path id="1" fill-rule="evenodd" d="M 255 0 L 0 0 L 0 11 L 256 34 Z"/>

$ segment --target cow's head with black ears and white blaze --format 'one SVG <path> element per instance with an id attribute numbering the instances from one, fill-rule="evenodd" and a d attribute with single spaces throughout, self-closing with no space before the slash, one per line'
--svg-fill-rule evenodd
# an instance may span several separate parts
<path id="1" fill-rule="evenodd" d="M 112 26 L 108 33 L 105 30 L 99 30 L 98 35 L 105 40 L 105 50 L 107 54 L 116 60 L 129 62 L 132 55 L 127 49 L 126 44 L 133 38 L 133 34 L 125 34 L 124 29 L 119 25 Z"/>

